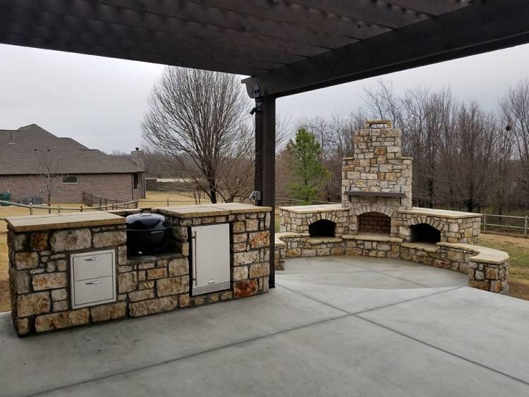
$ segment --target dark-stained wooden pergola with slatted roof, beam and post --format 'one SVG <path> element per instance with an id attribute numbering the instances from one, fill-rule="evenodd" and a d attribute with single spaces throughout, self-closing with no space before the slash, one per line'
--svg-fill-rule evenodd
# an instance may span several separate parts
<path id="1" fill-rule="evenodd" d="M 0 42 L 249 75 L 274 207 L 277 97 L 524 44 L 528 17 L 529 0 L 0 0 Z"/>

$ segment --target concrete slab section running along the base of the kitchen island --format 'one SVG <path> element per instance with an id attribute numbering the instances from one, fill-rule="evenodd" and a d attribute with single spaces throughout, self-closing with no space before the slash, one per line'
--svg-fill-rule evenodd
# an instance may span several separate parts
<path id="1" fill-rule="evenodd" d="M 148 367 L 343 314 L 284 288 L 257 299 L 27 338 L 18 338 L 10 313 L 2 313 L 0 396 L 26 396 Z M 21 376 L 31 381 L 18 381 Z"/>

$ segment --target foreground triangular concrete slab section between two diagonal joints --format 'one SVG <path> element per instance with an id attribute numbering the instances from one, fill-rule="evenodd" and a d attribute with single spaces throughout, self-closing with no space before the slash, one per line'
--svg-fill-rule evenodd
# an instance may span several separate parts
<path id="1" fill-rule="evenodd" d="M 523 396 L 529 386 L 347 317 L 46 396 Z"/>

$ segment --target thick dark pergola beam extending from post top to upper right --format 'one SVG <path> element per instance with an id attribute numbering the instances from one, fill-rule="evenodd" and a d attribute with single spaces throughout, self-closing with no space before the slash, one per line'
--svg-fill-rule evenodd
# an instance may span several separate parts
<path id="1" fill-rule="evenodd" d="M 475 2 L 453 13 L 243 80 L 282 97 L 529 42 L 529 0 Z"/>

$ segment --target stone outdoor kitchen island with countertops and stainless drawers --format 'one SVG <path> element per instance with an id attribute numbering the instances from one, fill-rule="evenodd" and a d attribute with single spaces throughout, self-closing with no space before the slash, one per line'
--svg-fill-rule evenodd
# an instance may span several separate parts
<path id="1" fill-rule="evenodd" d="M 153 209 L 171 222 L 170 248 L 142 256 L 127 255 L 123 215 L 130 210 L 11 217 L 16 331 L 25 335 L 266 293 L 270 211 L 235 203 Z M 190 230 L 220 224 L 229 225 L 230 281 L 222 291 L 193 295 Z"/>

